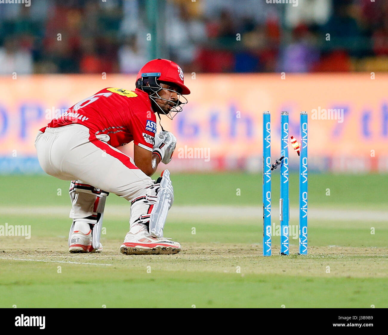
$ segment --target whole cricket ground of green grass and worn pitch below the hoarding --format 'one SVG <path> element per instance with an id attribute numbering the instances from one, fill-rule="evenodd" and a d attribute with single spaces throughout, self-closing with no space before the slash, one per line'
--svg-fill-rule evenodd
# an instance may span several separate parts
<path id="1" fill-rule="evenodd" d="M 7 191 L 0 225 L 31 225 L 31 239 L 0 236 L 0 307 L 387 308 L 387 177 L 310 174 L 309 254 L 297 255 L 298 239 L 290 238 L 290 255 L 279 256 L 274 236 L 274 256 L 265 258 L 261 174 L 173 174 L 173 208 L 190 206 L 190 212 L 171 209 L 165 235 L 179 241 L 182 252 L 166 256 L 119 253 L 129 205 L 113 194 L 104 251 L 69 254 L 69 182 L 0 176 Z M 298 206 L 297 175 L 290 177 L 290 203 Z M 229 217 L 222 208 L 239 213 Z M 255 208 L 257 216 L 249 212 Z M 347 219 L 352 212 L 359 217 Z M 290 224 L 298 224 L 297 216 Z"/>

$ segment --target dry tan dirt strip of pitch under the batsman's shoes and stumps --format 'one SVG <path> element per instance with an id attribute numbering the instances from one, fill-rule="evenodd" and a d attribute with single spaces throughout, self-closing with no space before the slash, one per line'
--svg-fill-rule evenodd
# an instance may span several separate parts
<path id="1" fill-rule="evenodd" d="M 273 246 L 271 257 L 262 256 L 260 244 L 183 244 L 175 255 L 125 256 L 120 253 L 121 240 L 104 243 L 102 253 L 70 254 L 63 238 L 42 238 L 36 242 L 16 237 L 3 239 L 0 263 L 4 261 L 80 263 L 120 267 L 128 265 L 168 271 L 206 271 L 250 274 L 276 274 L 336 277 L 388 276 L 388 248 L 382 247 L 309 247 L 308 255 L 298 255 L 298 246 L 290 246 L 289 256 L 280 256 Z"/>

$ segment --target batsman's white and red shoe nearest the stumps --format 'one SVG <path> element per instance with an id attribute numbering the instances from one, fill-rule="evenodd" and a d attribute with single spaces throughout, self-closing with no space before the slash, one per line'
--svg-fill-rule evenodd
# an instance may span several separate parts
<path id="1" fill-rule="evenodd" d="M 177 254 L 180 250 L 178 242 L 170 241 L 165 237 L 153 237 L 145 229 L 136 234 L 128 232 L 120 247 L 120 253 L 125 255 Z"/>

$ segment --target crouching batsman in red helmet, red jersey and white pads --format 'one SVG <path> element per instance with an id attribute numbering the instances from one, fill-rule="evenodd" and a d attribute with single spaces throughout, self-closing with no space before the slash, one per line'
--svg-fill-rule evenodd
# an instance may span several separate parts
<path id="1" fill-rule="evenodd" d="M 150 178 L 160 162 L 171 161 L 177 139 L 156 134 L 156 113 L 173 119 L 187 103 L 182 69 L 155 59 L 140 69 L 136 89 L 104 88 L 76 103 L 38 132 L 35 148 L 43 170 L 71 180 L 73 223 L 69 252 L 102 250 L 100 234 L 109 192 L 130 201 L 123 254 L 175 254 L 178 242 L 163 237 L 174 194 L 170 172 Z M 160 121 L 159 121 L 160 123 Z M 133 141 L 133 159 L 117 148 Z"/>

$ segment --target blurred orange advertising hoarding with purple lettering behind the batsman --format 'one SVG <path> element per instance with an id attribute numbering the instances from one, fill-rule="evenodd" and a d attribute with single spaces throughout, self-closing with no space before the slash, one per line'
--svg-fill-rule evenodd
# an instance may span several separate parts
<path id="1" fill-rule="evenodd" d="M 0 172 L 39 172 L 38 129 L 102 88 L 134 89 L 134 82 L 126 75 L 0 77 Z M 184 111 L 173 121 L 162 116 L 178 139 L 172 170 L 260 170 L 264 110 L 271 112 L 274 160 L 280 112 L 289 112 L 289 134 L 299 138 L 305 110 L 310 168 L 388 170 L 388 75 L 186 74 L 185 84 L 192 93 Z M 120 149 L 131 155 L 132 146 Z M 291 157 L 291 168 L 296 164 Z"/>

